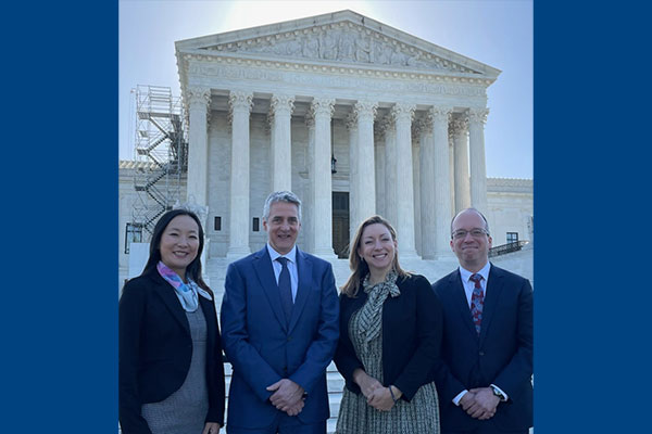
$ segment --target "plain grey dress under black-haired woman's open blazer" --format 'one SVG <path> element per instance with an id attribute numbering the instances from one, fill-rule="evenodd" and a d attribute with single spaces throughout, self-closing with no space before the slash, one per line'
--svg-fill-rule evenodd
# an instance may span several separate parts
<path id="1" fill-rule="evenodd" d="M 209 412 L 206 321 L 201 307 L 186 312 L 192 358 L 184 384 L 160 403 L 145 404 L 142 417 L 153 434 L 201 434 Z"/>

